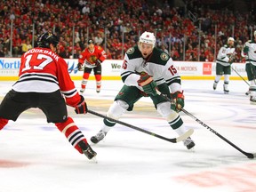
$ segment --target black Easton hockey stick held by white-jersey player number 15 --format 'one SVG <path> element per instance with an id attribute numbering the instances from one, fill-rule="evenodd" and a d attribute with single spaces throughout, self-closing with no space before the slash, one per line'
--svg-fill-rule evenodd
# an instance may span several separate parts
<path id="1" fill-rule="evenodd" d="M 156 90 L 157 94 L 162 96 L 165 100 L 168 100 L 172 103 L 172 100 L 170 100 L 166 95 L 164 95 L 162 92 L 159 92 L 158 90 Z M 215 135 L 217 135 L 218 137 L 220 137 L 220 139 L 228 142 L 229 145 L 231 145 L 233 148 L 236 148 L 238 151 L 240 151 L 242 154 L 244 154 L 244 156 L 247 156 L 248 158 L 254 158 L 256 156 L 256 153 L 252 154 L 252 153 L 247 153 L 244 150 L 242 150 L 241 148 L 238 148 L 234 143 L 232 143 L 231 141 L 227 140 L 225 137 L 223 137 L 222 135 L 220 135 L 219 132 L 214 131 L 210 126 L 208 126 L 207 124 L 204 124 L 204 122 L 202 122 L 201 120 L 199 120 L 198 118 L 196 118 L 196 116 L 193 116 L 191 113 L 189 113 L 187 110 L 185 110 L 184 108 L 181 108 L 181 111 L 183 111 L 183 113 L 185 113 L 187 116 L 190 116 L 191 118 L 193 118 L 194 120 L 196 120 L 197 123 L 202 124 L 205 128 L 207 128 L 210 132 L 213 132 Z"/>

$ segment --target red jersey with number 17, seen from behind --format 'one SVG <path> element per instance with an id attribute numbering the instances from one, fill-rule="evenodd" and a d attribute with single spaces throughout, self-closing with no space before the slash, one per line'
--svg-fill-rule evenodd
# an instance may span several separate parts
<path id="1" fill-rule="evenodd" d="M 68 73 L 68 64 L 47 48 L 34 48 L 21 56 L 19 80 L 12 85 L 16 92 L 60 92 L 69 106 L 75 107 L 80 95 Z"/>

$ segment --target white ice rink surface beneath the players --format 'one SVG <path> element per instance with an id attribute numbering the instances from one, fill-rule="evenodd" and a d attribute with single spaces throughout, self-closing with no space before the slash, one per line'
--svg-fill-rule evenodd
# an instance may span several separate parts
<path id="1" fill-rule="evenodd" d="M 256 152 L 256 106 L 251 105 L 248 85 L 230 81 L 229 94 L 223 82 L 212 90 L 213 81 L 183 81 L 185 109 L 246 152 Z M 13 82 L 0 83 L 0 100 Z M 77 89 L 80 82 L 76 82 Z M 96 93 L 95 81 L 84 92 L 88 108 L 103 115 L 114 100 L 121 81 L 103 81 Z M 91 114 L 69 116 L 90 140 L 100 130 L 102 118 Z M 124 125 L 108 132 L 105 140 L 92 148 L 98 164 L 80 155 L 44 114 L 32 108 L 0 132 L 0 192 L 17 191 L 189 191 L 251 192 L 256 189 L 256 162 L 180 113 L 196 148 L 188 151 L 182 142 L 173 144 L 132 130 Z M 167 122 L 157 114 L 149 98 L 138 101 L 132 112 L 119 119 L 128 124 L 176 137 Z"/>

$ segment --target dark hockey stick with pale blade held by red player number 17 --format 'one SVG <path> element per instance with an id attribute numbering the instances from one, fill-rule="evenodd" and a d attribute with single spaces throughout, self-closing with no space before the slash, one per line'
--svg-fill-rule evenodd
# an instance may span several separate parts
<path id="1" fill-rule="evenodd" d="M 165 137 L 163 137 L 163 136 L 161 136 L 161 135 L 158 135 L 158 134 L 156 134 L 156 133 L 154 133 L 154 132 L 148 132 L 147 130 L 141 129 L 140 127 L 134 126 L 134 125 L 132 125 L 132 124 L 126 124 L 126 123 L 124 123 L 124 122 L 121 122 L 121 121 L 119 121 L 119 120 L 110 118 L 110 117 L 108 117 L 108 116 L 101 115 L 100 113 L 97 113 L 97 112 L 92 111 L 92 110 L 89 110 L 89 109 L 87 110 L 87 112 L 88 112 L 88 113 L 91 113 L 92 115 L 95 115 L 95 116 L 100 116 L 100 117 L 102 117 L 102 118 L 107 118 L 109 121 L 116 122 L 117 124 L 123 124 L 124 126 L 130 127 L 130 128 L 132 128 L 132 129 L 134 129 L 134 130 L 137 130 L 137 131 L 139 131 L 139 132 L 144 132 L 144 133 L 147 133 L 147 134 L 149 134 L 149 135 L 151 135 L 151 136 L 154 136 L 154 137 L 156 137 L 156 138 L 159 138 L 159 139 L 161 139 L 161 140 L 167 140 L 167 141 L 172 142 L 172 143 L 177 143 L 177 142 L 180 142 L 181 140 L 186 140 L 186 139 L 194 132 L 193 129 L 190 129 L 190 130 L 188 130 L 188 132 L 185 132 L 183 135 L 180 135 L 180 136 L 177 137 L 177 138 L 169 139 L 169 138 L 165 138 Z"/>

